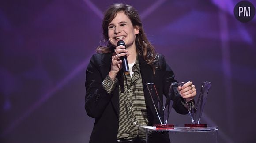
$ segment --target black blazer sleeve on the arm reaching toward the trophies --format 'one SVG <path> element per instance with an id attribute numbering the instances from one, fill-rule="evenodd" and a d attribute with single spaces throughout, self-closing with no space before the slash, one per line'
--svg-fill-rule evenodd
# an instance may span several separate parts
<path id="1" fill-rule="evenodd" d="M 161 59 L 160 66 L 164 70 L 163 81 L 162 81 L 163 85 L 164 85 L 163 86 L 163 88 L 164 88 L 163 94 L 168 95 L 171 83 L 177 82 L 177 80 L 174 79 L 175 75 L 174 75 L 172 69 L 166 63 L 165 57 L 163 55 L 159 54 L 159 59 Z M 173 96 L 174 96 L 174 97 L 172 97 L 173 108 L 175 109 L 175 111 L 180 114 L 187 114 L 188 109 L 182 104 L 182 102 L 184 102 L 184 99 L 181 97 L 181 95 L 177 93 Z"/>

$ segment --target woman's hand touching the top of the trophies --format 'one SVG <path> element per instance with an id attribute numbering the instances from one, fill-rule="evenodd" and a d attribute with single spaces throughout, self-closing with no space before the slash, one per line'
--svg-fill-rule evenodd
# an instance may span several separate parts
<path id="1" fill-rule="evenodd" d="M 196 96 L 196 88 L 191 81 L 188 81 L 182 87 L 179 86 L 178 91 L 186 101 L 192 100 Z"/>

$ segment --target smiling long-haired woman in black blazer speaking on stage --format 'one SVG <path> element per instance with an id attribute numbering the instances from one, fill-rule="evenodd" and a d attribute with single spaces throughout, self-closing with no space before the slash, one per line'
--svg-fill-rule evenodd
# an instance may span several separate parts
<path id="1" fill-rule="evenodd" d="M 173 71 L 148 41 L 132 6 L 110 6 L 102 29 L 107 46 L 97 48 L 86 71 L 85 109 L 88 116 L 95 118 L 90 143 L 143 143 L 145 132 L 139 126 L 159 124 L 146 84 L 154 83 L 162 99 L 168 94 L 170 84 L 176 82 Z M 120 40 L 126 47 L 117 46 Z M 122 69 L 124 56 L 129 74 Z M 173 108 L 177 113 L 187 114 L 184 99 L 196 95 L 195 86 L 187 82 L 178 90 L 181 95 L 173 97 Z M 169 137 L 155 134 L 150 141 L 168 143 Z"/>

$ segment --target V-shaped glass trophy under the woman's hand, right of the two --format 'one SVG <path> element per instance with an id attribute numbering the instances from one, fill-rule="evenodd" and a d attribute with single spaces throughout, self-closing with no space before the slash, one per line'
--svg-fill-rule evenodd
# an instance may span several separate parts
<path id="1" fill-rule="evenodd" d="M 183 86 L 184 84 L 185 83 L 179 83 L 178 86 Z M 211 87 L 211 82 L 206 81 L 202 84 L 201 91 L 196 104 L 194 99 L 189 101 L 185 99 L 187 109 L 193 123 L 193 124 L 185 124 L 185 127 L 190 127 L 190 128 L 207 127 L 207 124 L 199 124 L 199 123 L 200 123 L 200 119 L 203 113 L 203 108 L 204 108 L 210 87 Z"/>

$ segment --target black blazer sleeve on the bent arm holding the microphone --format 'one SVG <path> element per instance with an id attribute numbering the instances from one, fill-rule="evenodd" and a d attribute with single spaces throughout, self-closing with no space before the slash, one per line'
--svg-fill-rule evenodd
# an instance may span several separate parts
<path id="1" fill-rule="evenodd" d="M 113 96 L 113 93 L 108 93 L 103 87 L 103 80 L 106 75 L 102 75 L 100 70 L 101 61 L 101 55 L 94 54 L 86 70 L 85 110 L 88 116 L 92 118 L 98 118 L 102 115 Z"/>

